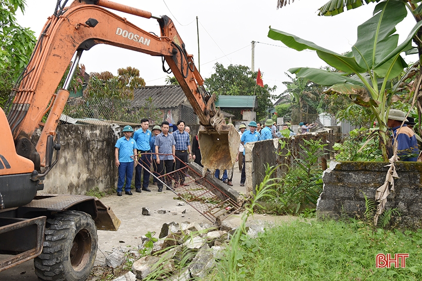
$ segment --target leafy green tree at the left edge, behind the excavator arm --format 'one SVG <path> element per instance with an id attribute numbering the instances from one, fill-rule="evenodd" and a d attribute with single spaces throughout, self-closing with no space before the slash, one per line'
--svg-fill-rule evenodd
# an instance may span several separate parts
<path id="1" fill-rule="evenodd" d="M 28 64 L 36 43 L 33 31 L 16 23 L 18 9 L 24 13 L 24 0 L 0 1 L 0 106 Z"/>

